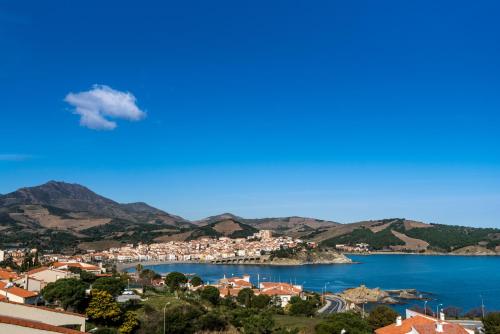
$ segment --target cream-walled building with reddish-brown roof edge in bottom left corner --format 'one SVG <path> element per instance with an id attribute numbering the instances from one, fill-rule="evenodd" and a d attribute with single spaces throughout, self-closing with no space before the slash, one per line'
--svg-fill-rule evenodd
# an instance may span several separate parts
<path id="1" fill-rule="evenodd" d="M 0 301 L 0 333 L 77 334 L 84 331 L 85 316 L 82 314 Z"/>

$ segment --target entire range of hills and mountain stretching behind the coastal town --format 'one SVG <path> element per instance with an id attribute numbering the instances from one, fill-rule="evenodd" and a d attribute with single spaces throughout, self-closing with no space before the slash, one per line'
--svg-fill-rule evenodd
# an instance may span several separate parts
<path id="1" fill-rule="evenodd" d="M 326 247 L 364 242 L 378 250 L 500 252 L 500 229 L 494 228 L 402 218 L 351 224 L 295 216 L 249 219 L 231 213 L 191 222 L 143 202 L 122 204 L 84 186 L 57 181 L 0 195 L 0 248 L 72 251 L 204 236 L 246 237 L 262 229 Z"/>

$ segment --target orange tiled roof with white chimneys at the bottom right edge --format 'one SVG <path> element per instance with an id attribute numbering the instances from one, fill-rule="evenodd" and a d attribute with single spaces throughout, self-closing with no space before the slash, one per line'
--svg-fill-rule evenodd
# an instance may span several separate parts
<path id="1" fill-rule="evenodd" d="M 405 320 L 398 316 L 394 324 L 376 329 L 375 334 L 474 334 L 474 330 L 446 321 L 442 312 L 437 319 L 407 310 Z"/>

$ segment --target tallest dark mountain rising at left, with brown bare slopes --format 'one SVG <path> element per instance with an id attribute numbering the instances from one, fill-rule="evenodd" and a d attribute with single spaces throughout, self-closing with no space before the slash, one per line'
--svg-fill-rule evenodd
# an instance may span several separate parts
<path id="1" fill-rule="evenodd" d="M 88 188 L 50 181 L 0 196 L 0 245 L 74 247 L 151 241 L 193 224 L 145 203 L 120 204 Z"/>

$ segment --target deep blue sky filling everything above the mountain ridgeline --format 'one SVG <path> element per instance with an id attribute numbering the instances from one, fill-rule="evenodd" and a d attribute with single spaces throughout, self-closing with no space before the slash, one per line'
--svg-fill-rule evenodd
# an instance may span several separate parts
<path id="1" fill-rule="evenodd" d="M 500 227 L 499 10 L 2 1 L 0 193 Z"/>

